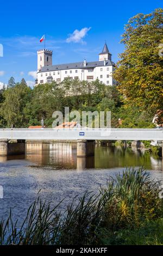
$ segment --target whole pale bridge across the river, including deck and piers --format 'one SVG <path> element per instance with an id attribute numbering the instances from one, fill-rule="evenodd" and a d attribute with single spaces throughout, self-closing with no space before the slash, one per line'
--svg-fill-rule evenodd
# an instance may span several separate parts
<path id="1" fill-rule="evenodd" d="M 9 143 L 16 139 L 17 143 Z M 0 129 L 0 155 L 24 154 L 26 140 L 77 140 L 77 156 L 95 154 L 95 140 L 162 141 L 161 129 Z M 163 147 L 162 147 L 163 148 Z M 163 149 L 162 149 L 163 151 Z"/>

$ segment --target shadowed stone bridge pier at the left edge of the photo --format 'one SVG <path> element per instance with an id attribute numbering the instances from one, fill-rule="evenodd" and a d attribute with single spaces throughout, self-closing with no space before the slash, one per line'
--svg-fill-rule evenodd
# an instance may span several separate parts
<path id="1" fill-rule="evenodd" d="M 25 154 L 25 140 L 18 139 L 17 143 L 9 143 L 9 139 L 0 139 L 0 156 Z"/>

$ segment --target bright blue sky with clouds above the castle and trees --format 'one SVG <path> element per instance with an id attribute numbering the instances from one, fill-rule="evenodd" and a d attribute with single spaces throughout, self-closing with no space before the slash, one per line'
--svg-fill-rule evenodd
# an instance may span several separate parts
<path id="1" fill-rule="evenodd" d="M 137 13 L 162 7 L 162 0 L 137 1 L 3 1 L 0 3 L 0 84 L 11 76 L 34 84 L 36 51 L 46 34 L 46 48 L 53 50 L 53 64 L 98 59 L 106 40 L 112 60 L 123 51 L 124 25 Z"/>

